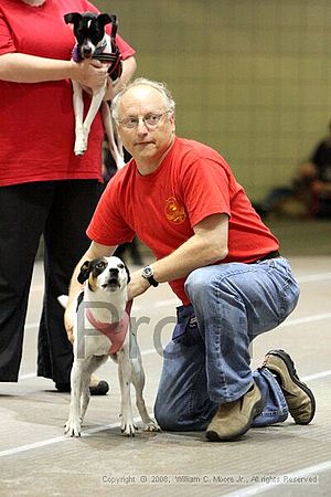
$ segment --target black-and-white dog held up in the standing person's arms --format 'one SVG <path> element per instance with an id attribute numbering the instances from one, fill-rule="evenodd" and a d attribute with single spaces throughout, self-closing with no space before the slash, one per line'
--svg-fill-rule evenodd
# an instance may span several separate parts
<path id="1" fill-rule="evenodd" d="M 66 24 L 73 24 L 74 35 L 76 38 L 76 45 L 73 50 L 73 60 L 82 62 L 85 59 L 97 59 L 109 65 L 108 74 L 115 83 L 121 75 L 121 55 L 116 44 L 117 19 L 116 15 L 107 13 L 96 14 L 95 12 L 71 12 L 64 15 Z M 111 23 L 111 36 L 105 31 L 105 27 Z M 107 89 L 107 83 L 93 93 L 88 113 L 83 118 L 83 88 L 72 81 L 73 84 L 73 104 L 76 121 L 76 139 L 75 139 L 75 155 L 82 156 L 87 149 L 88 134 L 92 123 L 102 106 L 102 114 L 104 120 L 105 133 L 108 138 L 111 155 L 116 161 L 117 168 L 124 166 L 121 144 L 116 145 L 114 138 L 114 128 L 111 124 L 110 109 L 106 102 L 103 102 Z"/>

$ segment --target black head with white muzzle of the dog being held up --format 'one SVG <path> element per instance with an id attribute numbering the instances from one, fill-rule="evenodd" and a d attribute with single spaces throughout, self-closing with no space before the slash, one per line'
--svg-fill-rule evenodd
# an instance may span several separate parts
<path id="1" fill-rule="evenodd" d="M 64 15 L 67 24 L 73 24 L 74 34 L 81 49 L 83 59 L 89 59 L 97 44 L 105 35 L 105 25 L 116 23 L 116 17 L 107 13 L 96 14 L 94 12 L 71 12 Z"/>

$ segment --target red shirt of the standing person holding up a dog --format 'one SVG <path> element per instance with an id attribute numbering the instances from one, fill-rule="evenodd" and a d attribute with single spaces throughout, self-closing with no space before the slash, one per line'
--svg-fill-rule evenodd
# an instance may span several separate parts
<path id="1" fill-rule="evenodd" d="M 31 7 L 21 0 L 0 2 L 0 55 L 19 52 L 70 60 L 75 44 L 64 14 L 98 10 L 86 0 L 45 0 Z M 109 27 L 107 27 L 108 29 Z M 117 38 L 124 59 L 135 51 Z M 85 109 L 89 97 L 85 95 Z M 88 149 L 74 155 L 73 91 L 70 80 L 46 83 L 0 81 L 0 186 L 60 179 L 102 180 L 100 113 L 90 129 Z"/>

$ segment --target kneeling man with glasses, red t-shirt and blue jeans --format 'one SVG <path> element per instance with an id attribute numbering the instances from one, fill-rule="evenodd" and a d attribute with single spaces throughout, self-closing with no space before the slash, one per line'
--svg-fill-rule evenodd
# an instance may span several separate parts
<path id="1" fill-rule="evenodd" d="M 182 300 L 164 349 L 156 417 L 163 430 L 206 430 L 234 440 L 250 426 L 308 424 L 314 396 L 290 356 L 270 350 L 252 371 L 249 342 L 293 310 L 299 288 L 279 243 L 253 209 L 225 159 L 175 136 L 166 85 L 135 80 L 113 101 L 113 116 L 132 159 L 108 183 L 87 234 L 92 244 L 71 284 L 65 326 L 86 260 L 139 239 L 156 262 L 131 275 L 128 298 L 168 282 Z"/>

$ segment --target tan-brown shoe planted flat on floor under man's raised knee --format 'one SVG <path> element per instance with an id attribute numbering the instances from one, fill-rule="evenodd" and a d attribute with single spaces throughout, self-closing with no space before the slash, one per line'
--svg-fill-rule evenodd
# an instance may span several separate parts
<path id="1" fill-rule="evenodd" d="M 254 417 L 261 413 L 264 401 L 256 384 L 241 399 L 221 404 L 206 429 L 206 437 L 213 442 L 226 442 L 249 430 Z"/>

